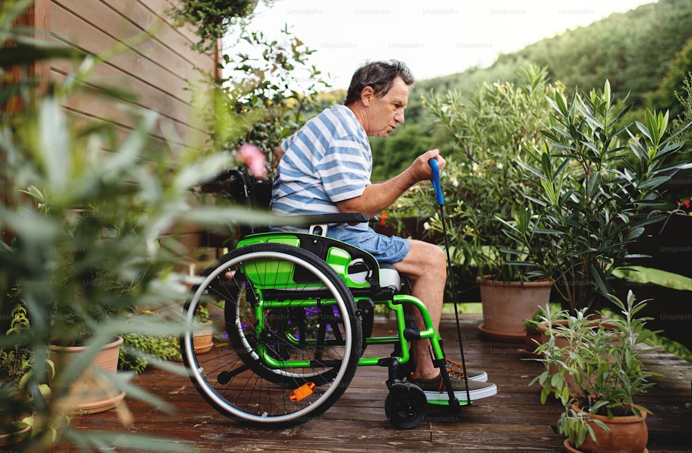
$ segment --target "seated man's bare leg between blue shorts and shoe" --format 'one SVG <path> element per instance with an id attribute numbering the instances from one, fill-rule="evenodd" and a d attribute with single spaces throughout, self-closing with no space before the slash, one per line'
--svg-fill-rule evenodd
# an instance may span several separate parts
<path id="1" fill-rule="evenodd" d="M 444 285 L 446 282 L 446 258 L 444 251 L 436 245 L 411 240 L 411 249 L 406 258 L 394 267 L 406 276 L 412 287 L 412 296 L 421 300 L 428 308 L 432 325 L 439 330 L 439 320 L 442 315 L 442 303 L 444 301 Z M 412 316 L 419 328 L 424 327 L 423 319 L 418 310 L 412 310 Z M 430 379 L 439 374 L 439 370 L 432 365 L 430 341 L 412 341 L 412 355 L 416 364 L 416 375 L 423 379 Z"/>

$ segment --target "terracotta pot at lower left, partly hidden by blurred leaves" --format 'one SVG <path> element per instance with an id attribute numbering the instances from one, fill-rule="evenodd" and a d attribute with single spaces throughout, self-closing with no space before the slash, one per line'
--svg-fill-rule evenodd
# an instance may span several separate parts
<path id="1" fill-rule="evenodd" d="M 104 345 L 95 355 L 93 366 L 107 373 L 116 373 L 120 344 L 122 337 Z M 55 363 L 56 374 L 60 375 L 61 370 L 71 366 L 84 350 L 85 346 L 51 346 L 51 359 Z M 86 368 L 84 373 L 70 384 L 66 410 L 82 413 L 103 412 L 116 407 L 122 398 L 125 398 L 124 391 L 119 392 L 112 382 L 104 380 Z"/>

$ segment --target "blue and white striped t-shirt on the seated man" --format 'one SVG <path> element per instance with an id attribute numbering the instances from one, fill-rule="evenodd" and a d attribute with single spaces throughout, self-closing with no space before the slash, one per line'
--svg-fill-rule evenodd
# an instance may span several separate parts
<path id="1" fill-rule="evenodd" d="M 370 184 L 372 152 L 351 109 L 335 105 L 281 144 L 271 207 L 278 215 L 338 213 Z"/>

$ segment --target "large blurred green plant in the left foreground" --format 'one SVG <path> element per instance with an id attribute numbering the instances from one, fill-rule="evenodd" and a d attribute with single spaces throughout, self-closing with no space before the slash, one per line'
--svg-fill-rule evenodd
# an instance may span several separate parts
<path id="1" fill-rule="evenodd" d="M 179 255 L 185 250 L 176 239 L 181 222 L 221 224 L 246 215 L 237 208 L 190 204 L 190 185 L 226 168 L 228 157 L 190 163 L 199 159 L 196 152 L 174 155 L 167 147 L 150 148 L 154 114 L 139 118 L 140 129 L 122 143 L 108 127 L 68 124 L 57 99 L 60 89 L 54 94 L 39 100 L 35 109 L 3 116 L 12 124 L 0 127 L 0 178 L 6 181 L 8 203 L 0 206 L 0 224 L 12 236 L 0 243 L 0 291 L 17 288 L 26 301 L 31 321 L 26 345 L 33 350 L 50 344 L 84 346 L 71 366 L 56 370 L 51 400 L 37 402 L 32 451 L 48 451 L 46 445 L 57 438 L 52 426 L 60 426 L 57 436 L 79 438 L 86 445 L 89 433 L 80 429 L 77 435 L 63 423 L 66 413 L 85 410 L 70 392 L 84 371 L 98 376 L 107 393 L 120 399 L 128 389 L 140 391 L 128 382 L 131 375 L 103 373 L 92 359 L 122 333 L 145 332 L 125 317 L 132 308 L 184 298 L 185 274 L 174 270 L 190 258 Z M 8 312 L 5 301 L 0 312 Z M 167 330 L 172 329 L 178 334 L 183 326 L 169 324 Z M 55 362 L 59 368 L 64 360 L 56 355 Z M 36 368 L 27 384 L 35 388 L 47 377 Z M 0 398 L 6 405 L 8 399 Z M 102 445 L 103 440 L 93 442 Z"/>

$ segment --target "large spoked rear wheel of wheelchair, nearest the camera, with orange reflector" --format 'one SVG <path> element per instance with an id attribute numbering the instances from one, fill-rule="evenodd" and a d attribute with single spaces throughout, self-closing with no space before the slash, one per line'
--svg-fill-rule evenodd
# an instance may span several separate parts
<path id="1" fill-rule="evenodd" d="M 203 274 L 185 303 L 223 306 L 227 337 L 209 353 L 181 335 L 183 362 L 201 395 L 248 425 L 296 425 L 343 395 L 361 356 L 353 296 L 325 261 L 281 244 L 231 251 Z"/>

